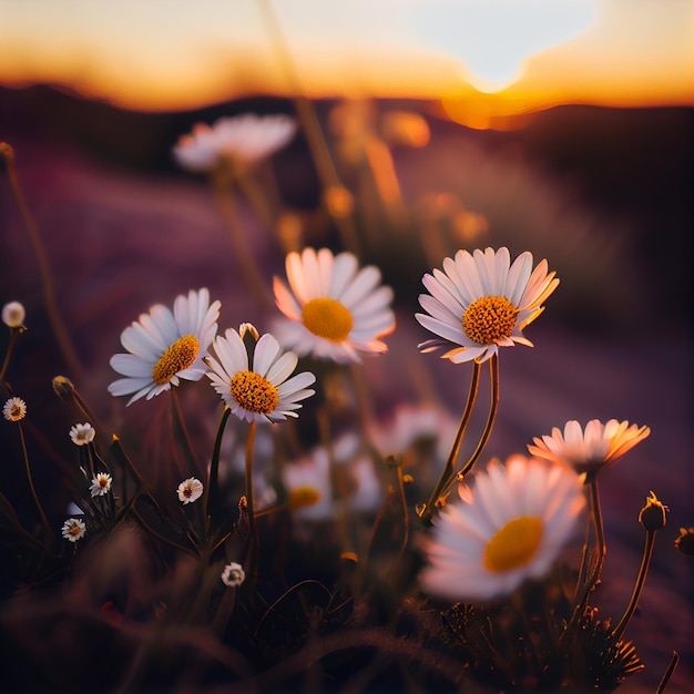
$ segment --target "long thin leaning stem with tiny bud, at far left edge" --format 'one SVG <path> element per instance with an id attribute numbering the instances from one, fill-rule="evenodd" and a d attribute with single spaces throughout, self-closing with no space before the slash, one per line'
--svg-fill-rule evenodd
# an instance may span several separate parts
<path id="1" fill-rule="evenodd" d="M 41 284 L 43 285 L 43 302 L 51 322 L 51 327 L 53 328 L 53 334 L 55 335 L 60 351 L 62 353 L 68 368 L 76 378 L 82 380 L 84 377 L 84 369 L 72 343 L 70 341 L 68 330 L 65 329 L 62 318 L 60 317 L 60 312 L 58 310 L 58 302 L 55 300 L 53 279 L 51 277 L 45 248 L 43 246 L 43 242 L 41 241 L 41 235 L 39 234 L 35 222 L 29 212 L 29 206 L 27 205 L 27 201 L 24 200 L 24 195 L 19 184 L 17 169 L 14 166 L 14 150 L 7 142 L 0 142 L 0 154 L 4 157 L 10 187 L 12 188 L 12 194 L 14 195 L 24 227 L 27 228 L 31 245 L 33 246 L 37 262 L 39 263 L 39 274 L 41 276 Z"/>

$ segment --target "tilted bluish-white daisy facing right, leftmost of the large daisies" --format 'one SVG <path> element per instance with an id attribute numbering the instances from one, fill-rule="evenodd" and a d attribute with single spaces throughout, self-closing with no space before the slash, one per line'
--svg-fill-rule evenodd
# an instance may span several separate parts
<path id="1" fill-rule="evenodd" d="M 180 295 L 173 313 L 152 306 L 123 330 L 121 343 L 130 354 L 111 357 L 111 367 L 125 376 L 109 386 L 113 396 L 134 394 L 127 405 L 142 397 L 151 399 L 177 386 L 182 378 L 200 380 L 205 372 L 203 357 L 217 333 L 220 302 L 210 304 L 206 288 Z"/>

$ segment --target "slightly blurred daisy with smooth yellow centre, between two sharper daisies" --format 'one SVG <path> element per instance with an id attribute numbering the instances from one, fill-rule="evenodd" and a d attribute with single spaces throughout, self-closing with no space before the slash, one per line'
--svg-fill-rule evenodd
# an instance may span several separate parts
<path id="1" fill-rule="evenodd" d="M 392 289 L 379 286 L 380 271 L 358 269 L 351 253 L 305 248 L 286 259 L 289 288 L 275 277 L 275 299 L 289 318 L 277 328 L 279 341 L 300 356 L 341 364 L 360 361 L 358 351 L 388 350 L 380 337 L 395 329 Z"/>

